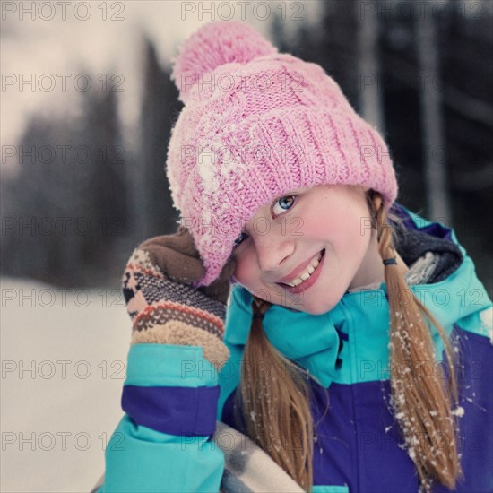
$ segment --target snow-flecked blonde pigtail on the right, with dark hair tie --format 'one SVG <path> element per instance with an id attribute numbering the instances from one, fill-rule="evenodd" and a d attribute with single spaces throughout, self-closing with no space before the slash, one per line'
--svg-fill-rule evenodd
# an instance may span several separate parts
<path id="1" fill-rule="evenodd" d="M 378 251 L 382 259 L 395 257 L 393 229 L 387 224 L 382 196 L 368 194 L 377 230 Z M 394 216 L 392 216 L 394 218 Z M 452 345 L 444 329 L 408 288 L 396 264 L 385 265 L 385 284 L 390 310 L 390 363 L 392 402 L 412 461 L 416 464 L 422 487 L 428 492 L 432 480 L 449 489 L 463 476 L 455 429 L 458 423 L 452 412 L 457 403 Z M 402 295 L 404 295 L 402 297 Z M 423 374 L 420 363 L 429 362 L 434 368 L 434 345 L 430 328 L 436 328 L 445 347 L 450 368 L 447 388 L 434 371 Z M 407 363 L 402 376 L 398 368 Z M 417 371 L 418 370 L 418 371 Z M 445 449 L 437 446 L 437 438 L 445 437 Z"/>

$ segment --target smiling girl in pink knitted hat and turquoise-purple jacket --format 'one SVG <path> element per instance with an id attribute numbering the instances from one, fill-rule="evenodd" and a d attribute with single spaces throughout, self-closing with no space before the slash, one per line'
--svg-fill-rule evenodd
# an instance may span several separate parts
<path id="1" fill-rule="evenodd" d="M 145 241 L 107 491 L 493 491 L 491 300 L 382 137 L 241 22 L 175 60 L 175 235 Z M 96 490 L 95 489 L 95 490 Z"/>

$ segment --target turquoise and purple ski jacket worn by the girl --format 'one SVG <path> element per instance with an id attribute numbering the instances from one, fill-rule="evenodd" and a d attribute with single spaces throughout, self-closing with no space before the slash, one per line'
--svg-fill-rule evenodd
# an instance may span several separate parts
<path id="1" fill-rule="evenodd" d="M 408 286 L 445 329 L 459 361 L 459 405 L 454 414 L 459 417 L 464 477 L 455 491 L 491 492 L 491 300 L 454 229 L 397 203 L 392 212 L 405 228 L 396 249 L 410 266 Z M 386 295 L 382 282 L 346 292 L 323 315 L 279 305 L 265 314 L 269 341 L 317 380 L 309 380 L 316 424 L 315 492 L 419 491 L 413 451 L 403 446 L 390 405 Z M 109 441 L 105 476 L 93 491 L 302 491 L 270 458 L 259 460 L 266 454 L 241 435 L 245 423 L 235 419 L 251 303 L 245 288 L 232 286 L 224 339 L 230 357 L 219 373 L 203 359 L 200 347 L 131 347 L 124 385 L 142 387 L 142 397 L 134 402 L 132 416 L 125 412 Z M 423 364 L 446 374 L 443 343 L 435 329 L 431 333 L 436 361 Z M 148 397 L 148 387 L 160 387 L 160 400 Z M 433 491 L 449 489 L 435 484 Z"/>

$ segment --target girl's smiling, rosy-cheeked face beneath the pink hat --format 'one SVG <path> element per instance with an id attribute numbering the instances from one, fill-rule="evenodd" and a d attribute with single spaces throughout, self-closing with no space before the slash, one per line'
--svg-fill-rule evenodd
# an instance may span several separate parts
<path id="1" fill-rule="evenodd" d="M 234 277 L 258 298 L 320 315 L 348 289 L 384 281 L 374 231 L 362 188 L 297 188 L 247 222 L 233 250 Z"/>

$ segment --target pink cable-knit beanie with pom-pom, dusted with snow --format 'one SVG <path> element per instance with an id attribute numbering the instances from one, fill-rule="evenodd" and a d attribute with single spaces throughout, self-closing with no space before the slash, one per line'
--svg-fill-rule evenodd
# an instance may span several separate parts
<path id="1" fill-rule="evenodd" d="M 245 22 L 209 22 L 173 60 L 185 103 L 169 141 L 167 175 L 208 286 L 245 223 L 302 186 L 368 186 L 387 210 L 397 196 L 389 151 L 316 64 L 278 53 Z"/>

